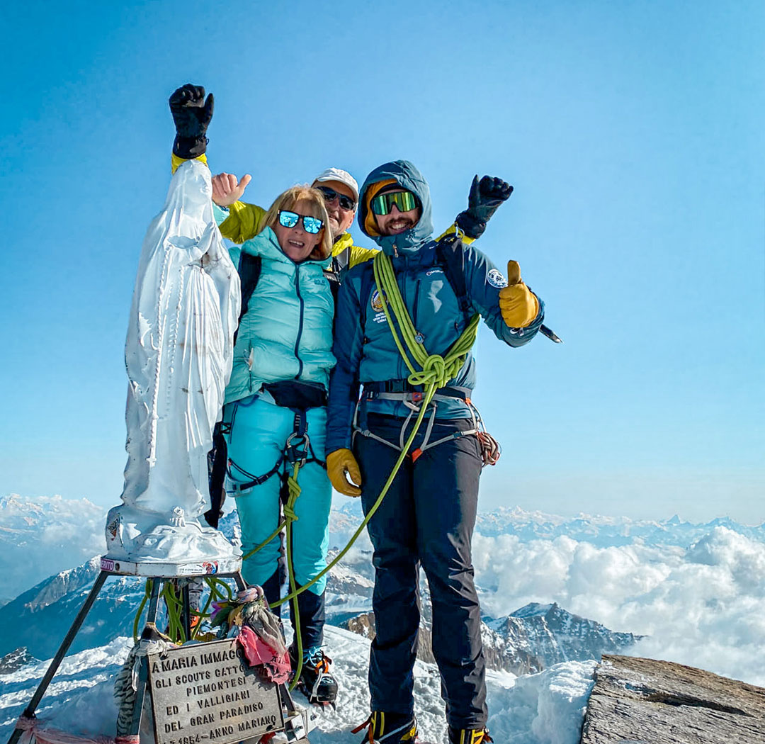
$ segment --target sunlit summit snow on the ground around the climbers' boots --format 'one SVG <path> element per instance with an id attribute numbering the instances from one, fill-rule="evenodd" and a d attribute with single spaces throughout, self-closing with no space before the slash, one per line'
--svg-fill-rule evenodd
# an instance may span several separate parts
<path id="1" fill-rule="evenodd" d="M 340 687 L 337 710 L 319 712 L 311 744 L 348 744 L 358 741 L 350 729 L 369 715 L 366 672 L 369 641 L 340 628 L 329 627 L 333 671 Z M 116 706 L 114 677 L 132 645 L 116 638 L 101 648 L 81 651 L 64 659 L 53 684 L 37 710 L 44 726 L 55 726 L 80 736 L 113 736 Z M 0 739 L 10 736 L 15 720 L 29 702 L 49 661 L 26 664 L 0 675 Z M 541 674 L 513 677 L 507 672 L 487 674 L 488 726 L 497 742 L 513 744 L 577 744 L 595 663 L 570 661 Z M 415 664 L 416 712 L 423 741 L 446 740 L 441 680 L 432 664 Z M 305 700 L 299 694 L 297 703 Z M 143 741 L 142 744 L 150 744 Z"/>

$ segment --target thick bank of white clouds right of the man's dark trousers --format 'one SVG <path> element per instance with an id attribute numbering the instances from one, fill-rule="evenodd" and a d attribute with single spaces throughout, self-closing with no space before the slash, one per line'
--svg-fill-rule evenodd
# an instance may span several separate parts
<path id="1" fill-rule="evenodd" d="M 612 630 L 649 635 L 635 654 L 765 684 L 765 544 L 726 527 L 687 550 L 476 535 L 474 564 L 490 615 L 558 602 Z"/>

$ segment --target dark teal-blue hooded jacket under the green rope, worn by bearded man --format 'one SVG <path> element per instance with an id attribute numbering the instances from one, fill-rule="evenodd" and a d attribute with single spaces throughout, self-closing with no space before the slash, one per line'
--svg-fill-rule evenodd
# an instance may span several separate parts
<path id="1" fill-rule="evenodd" d="M 404 233 L 376 236 L 364 229 L 368 210 L 366 191 L 372 184 L 390 178 L 416 194 L 422 204 L 422 217 Z M 431 240 L 430 189 L 412 163 L 386 163 L 369 174 L 360 191 L 359 223 L 361 229 L 391 257 L 402 298 L 415 328 L 424 338 L 428 353 L 444 354 L 464 331 L 466 321 L 457 296 L 438 263 L 437 243 Z M 480 313 L 496 337 L 509 346 L 522 346 L 534 338 L 545 315 L 541 300 L 539 315 L 531 325 L 509 328 L 503 321 L 499 304 L 500 289 L 506 286 L 506 280 L 496 266 L 480 250 L 464 246 L 464 272 L 471 315 Z M 351 269 L 340 286 L 333 351 L 337 367 L 330 381 L 327 452 L 350 448 L 353 410 L 360 383 L 405 380 L 409 376 L 377 296 L 371 261 Z M 468 354 L 449 386 L 472 390 L 474 384 L 475 363 L 473 355 Z M 365 399 L 361 406 L 362 417 L 366 413 L 392 416 L 408 416 L 410 413 L 410 409 L 399 401 Z M 438 419 L 469 415 L 463 400 L 438 401 Z"/>

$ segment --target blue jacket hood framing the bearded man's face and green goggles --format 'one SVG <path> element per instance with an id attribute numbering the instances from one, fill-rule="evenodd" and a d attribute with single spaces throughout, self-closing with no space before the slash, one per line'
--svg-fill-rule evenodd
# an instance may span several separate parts
<path id="1" fill-rule="evenodd" d="M 373 184 L 379 181 L 396 181 L 401 188 L 408 189 L 415 194 L 422 204 L 422 215 L 419 222 L 399 235 L 373 235 L 367 232 L 364 224 L 369 214 L 369 204 L 367 204 L 366 191 Z M 382 248 L 389 256 L 393 255 L 393 246 L 395 244 L 398 253 L 413 253 L 419 250 L 420 246 L 430 240 L 433 233 L 433 220 L 431 218 L 431 198 L 428 181 L 422 177 L 422 173 L 415 168 L 408 160 L 394 160 L 391 163 L 385 163 L 375 168 L 364 181 L 359 198 L 359 226 L 361 231 L 377 245 Z"/>

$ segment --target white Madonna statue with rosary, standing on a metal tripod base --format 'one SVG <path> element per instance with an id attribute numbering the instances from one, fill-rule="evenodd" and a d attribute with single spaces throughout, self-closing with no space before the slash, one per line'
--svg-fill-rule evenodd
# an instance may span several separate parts
<path id="1" fill-rule="evenodd" d="M 211 195 L 207 165 L 184 162 L 144 239 L 125 342 L 128 463 L 122 505 L 106 520 L 107 558 L 186 563 L 239 555 L 199 521 L 210 508 L 207 453 L 240 304 Z"/>

